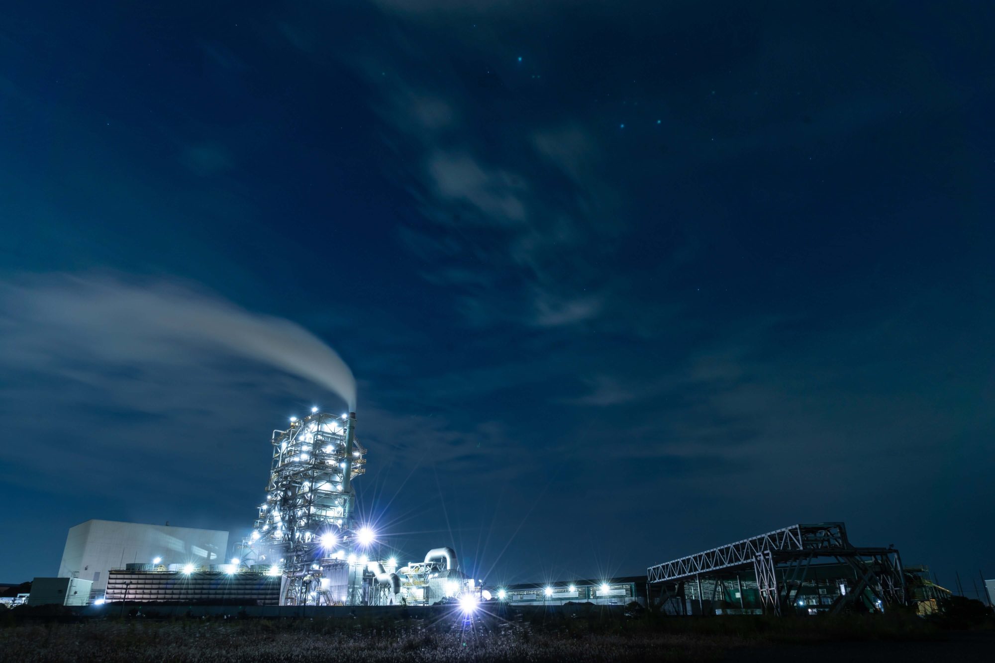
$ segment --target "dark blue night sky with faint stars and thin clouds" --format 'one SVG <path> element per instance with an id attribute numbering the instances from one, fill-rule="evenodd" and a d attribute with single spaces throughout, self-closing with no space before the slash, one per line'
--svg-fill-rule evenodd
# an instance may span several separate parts
<path id="1" fill-rule="evenodd" d="M 842 520 L 995 576 L 995 10 L 851 4 L 6 6 L 0 580 L 94 518 L 239 539 L 346 409 L 188 309 L 348 363 L 402 558 Z"/>

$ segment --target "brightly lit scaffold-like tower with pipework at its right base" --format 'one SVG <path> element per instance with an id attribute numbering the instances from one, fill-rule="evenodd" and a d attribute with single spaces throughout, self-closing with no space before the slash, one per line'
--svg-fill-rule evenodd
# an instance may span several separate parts
<path id="1" fill-rule="evenodd" d="M 399 566 L 370 524 L 355 518 L 352 480 L 366 470 L 354 412 L 292 418 L 271 437 L 273 461 L 255 529 L 232 560 L 280 576 L 281 605 L 430 603 L 480 588 L 459 569 L 451 548 Z M 402 580 L 403 576 L 403 580 Z"/>

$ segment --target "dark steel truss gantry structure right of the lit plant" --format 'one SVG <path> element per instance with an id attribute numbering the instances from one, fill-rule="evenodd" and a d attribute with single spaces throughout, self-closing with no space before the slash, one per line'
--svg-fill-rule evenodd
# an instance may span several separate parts
<path id="1" fill-rule="evenodd" d="M 827 563 L 849 571 L 847 575 L 853 583 L 845 591 L 841 590 L 828 606 L 830 612 L 841 612 L 861 603 L 881 609 L 885 605 L 906 602 L 898 551 L 893 547 L 853 546 L 847 539 L 843 523 L 793 525 L 650 566 L 647 582 L 651 601 L 657 593 L 662 605 L 671 602 L 672 611 L 686 614 L 689 581 L 697 585 L 699 606 L 702 605 L 702 579 L 710 580 L 713 597 L 716 594 L 724 596 L 725 583 L 734 582 L 739 588 L 742 607 L 740 573 L 752 571 L 764 612 L 781 614 L 785 608 L 794 606 L 802 586 L 810 580 L 810 571 Z"/>

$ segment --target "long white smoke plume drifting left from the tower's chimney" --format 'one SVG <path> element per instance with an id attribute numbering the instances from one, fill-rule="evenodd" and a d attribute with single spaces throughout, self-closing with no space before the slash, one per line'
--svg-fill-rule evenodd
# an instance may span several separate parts
<path id="1" fill-rule="evenodd" d="M 356 407 L 356 381 L 314 334 L 282 318 L 171 284 L 57 277 L 0 286 L 0 360 L 170 362 L 191 350 L 254 359 L 327 387 Z"/>

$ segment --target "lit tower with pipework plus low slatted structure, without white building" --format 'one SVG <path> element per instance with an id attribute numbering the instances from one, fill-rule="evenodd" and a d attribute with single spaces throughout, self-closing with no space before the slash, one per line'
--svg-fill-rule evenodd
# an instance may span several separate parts
<path id="1" fill-rule="evenodd" d="M 107 570 L 100 600 L 306 606 L 492 597 L 460 570 L 451 548 L 404 563 L 381 554 L 388 549 L 355 510 L 353 481 L 366 471 L 366 449 L 356 439 L 354 412 L 313 408 L 306 417 L 293 417 L 286 430 L 273 431 L 270 442 L 266 497 L 237 556 L 225 562 L 201 547 L 194 547 L 204 552 L 196 557 L 179 546 L 184 558 L 170 561 L 146 550 L 156 554 L 151 563 Z"/>

